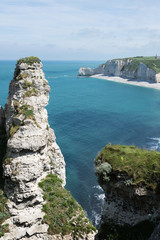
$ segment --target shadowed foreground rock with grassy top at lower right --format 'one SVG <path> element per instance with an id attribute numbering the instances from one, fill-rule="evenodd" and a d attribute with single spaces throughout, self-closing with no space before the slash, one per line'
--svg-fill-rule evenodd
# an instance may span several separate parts
<path id="1" fill-rule="evenodd" d="M 97 239 L 138 239 L 137 233 L 149 239 L 160 217 L 159 159 L 159 152 L 120 145 L 107 145 L 97 156 L 106 197 Z"/>

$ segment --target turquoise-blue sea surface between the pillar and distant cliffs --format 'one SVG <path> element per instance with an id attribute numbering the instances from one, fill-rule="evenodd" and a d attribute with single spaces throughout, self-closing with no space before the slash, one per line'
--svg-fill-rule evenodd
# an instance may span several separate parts
<path id="1" fill-rule="evenodd" d="M 50 126 L 66 162 L 66 188 L 94 224 L 104 200 L 94 159 L 107 144 L 134 144 L 160 151 L 160 90 L 77 77 L 81 66 L 104 61 L 43 61 L 51 87 Z M 0 105 L 4 106 L 16 61 L 0 61 Z"/>

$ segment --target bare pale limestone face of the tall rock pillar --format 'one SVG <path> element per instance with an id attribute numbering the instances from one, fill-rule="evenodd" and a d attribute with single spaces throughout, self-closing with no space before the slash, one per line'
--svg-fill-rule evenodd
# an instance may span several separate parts
<path id="1" fill-rule="evenodd" d="M 5 108 L 7 152 L 3 163 L 11 218 L 2 239 L 50 239 L 42 223 L 44 203 L 38 183 L 56 174 L 65 185 L 65 162 L 49 127 L 45 106 L 50 87 L 41 63 L 17 64 Z"/>

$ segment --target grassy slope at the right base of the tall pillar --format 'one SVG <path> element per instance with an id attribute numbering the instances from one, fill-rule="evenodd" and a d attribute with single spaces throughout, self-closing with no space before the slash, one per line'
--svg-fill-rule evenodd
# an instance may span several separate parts
<path id="1" fill-rule="evenodd" d="M 46 213 L 43 222 L 49 225 L 49 234 L 72 234 L 73 239 L 77 239 L 78 236 L 96 230 L 56 175 L 48 175 L 39 183 L 39 187 L 42 188 L 46 201 L 42 209 Z"/>

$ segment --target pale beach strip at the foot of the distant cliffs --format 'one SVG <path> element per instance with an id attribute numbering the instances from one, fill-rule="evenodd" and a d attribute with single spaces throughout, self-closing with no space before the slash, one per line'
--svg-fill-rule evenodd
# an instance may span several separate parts
<path id="1" fill-rule="evenodd" d="M 140 86 L 140 87 L 147 87 L 147 88 L 154 88 L 160 90 L 160 83 L 149 83 L 145 81 L 138 81 L 138 80 L 130 80 L 127 78 L 122 78 L 122 77 L 117 77 L 117 76 L 105 76 L 103 74 L 95 74 L 90 76 L 92 78 L 99 78 L 103 80 L 108 80 L 108 81 L 113 81 L 113 82 L 118 82 L 118 83 L 125 83 L 125 84 L 130 84 L 130 85 L 135 85 L 135 86 Z"/>

